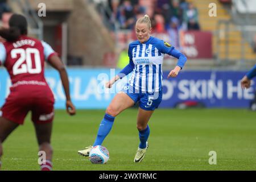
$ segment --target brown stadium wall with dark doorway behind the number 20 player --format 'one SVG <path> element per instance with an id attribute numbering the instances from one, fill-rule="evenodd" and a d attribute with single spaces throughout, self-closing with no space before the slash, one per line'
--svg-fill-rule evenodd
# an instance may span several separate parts
<path id="1" fill-rule="evenodd" d="M 104 55 L 114 52 L 114 39 L 89 1 L 9 0 L 8 3 L 15 13 L 26 15 L 30 36 L 46 40 L 67 65 L 103 65 Z M 47 5 L 46 16 L 38 16 L 40 3 Z"/>

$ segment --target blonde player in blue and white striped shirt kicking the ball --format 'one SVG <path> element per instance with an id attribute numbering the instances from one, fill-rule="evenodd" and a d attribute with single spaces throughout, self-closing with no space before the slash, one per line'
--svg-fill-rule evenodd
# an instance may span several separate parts
<path id="1" fill-rule="evenodd" d="M 168 78 L 178 75 L 187 61 L 187 57 L 167 42 L 150 36 L 152 28 L 148 15 L 144 15 L 144 17 L 137 20 L 135 30 L 138 40 L 129 45 L 130 63 L 117 76 L 106 83 L 106 88 L 111 88 L 115 81 L 125 77 L 130 72 L 133 73 L 129 84 L 113 98 L 106 109 L 93 146 L 102 144 L 112 129 L 115 117 L 119 113 L 139 101 L 137 129 L 139 130 L 140 143 L 134 158 L 134 162 L 139 163 L 143 160 L 148 148 L 147 139 L 150 134 L 150 128 L 147 123 L 162 101 L 164 53 L 179 59 L 176 67 L 169 73 Z M 78 152 L 80 155 L 88 156 L 91 149 L 92 146 L 89 146 L 85 150 Z"/>

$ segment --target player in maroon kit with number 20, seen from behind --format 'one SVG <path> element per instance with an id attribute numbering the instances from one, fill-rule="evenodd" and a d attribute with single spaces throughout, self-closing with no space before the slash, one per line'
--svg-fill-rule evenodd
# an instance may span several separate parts
<path id="1" fill-rule="evenodd" d="M 59 71 L 67 99 L 67 112 L 74 115 L 76 109 L 69 95 L 67 72 L 51 46 L 27 36 L 24 16 L 12 15 L 9 28 L 0 29 L 0 36 L 6 40 L 0 43 L 0 65 L 6 67 L 12 82 L 10 94 L 0 111 L 0 159 L 3 155 L 2 143 L 16 127 L 23 124 L 28 111 L 31 111 L 39 151 L 46 152 L 46 162 L 41 165 L 41 170 L 49 171 L 52 169 L 51 132 L 55 101 L 44 78 L 44 61 L 47 60 Z"/>

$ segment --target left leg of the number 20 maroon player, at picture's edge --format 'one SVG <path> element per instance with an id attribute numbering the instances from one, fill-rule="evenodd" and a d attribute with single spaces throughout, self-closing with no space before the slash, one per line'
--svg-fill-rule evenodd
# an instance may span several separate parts
<path id="1" fill-rule="evenodd" d="M 18 123 L 15 123 L 15 122 L 9 121 L 6 118 L 0 117 L 0 169 L 2 166 L 1 156 L 3 155 L 2 143 L 10 135 L 10 133 L 13 132 L 18 126 L 19 126 Z"/>

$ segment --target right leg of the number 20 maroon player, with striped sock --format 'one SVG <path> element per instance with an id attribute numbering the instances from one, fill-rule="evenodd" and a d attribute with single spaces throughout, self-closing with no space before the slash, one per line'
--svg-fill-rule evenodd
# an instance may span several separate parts
<path id="1" fill-rule="evenodd" d="M 36 138 L 38 139 L 39 152 L 45 154 L 45 161 L 40 163 L 42 171 L 51 171 L 52 170 L 52 146 L 51 146 L 51 134 L 52 134 L 52 122 L 48 123 L 35 123 Z"/>

